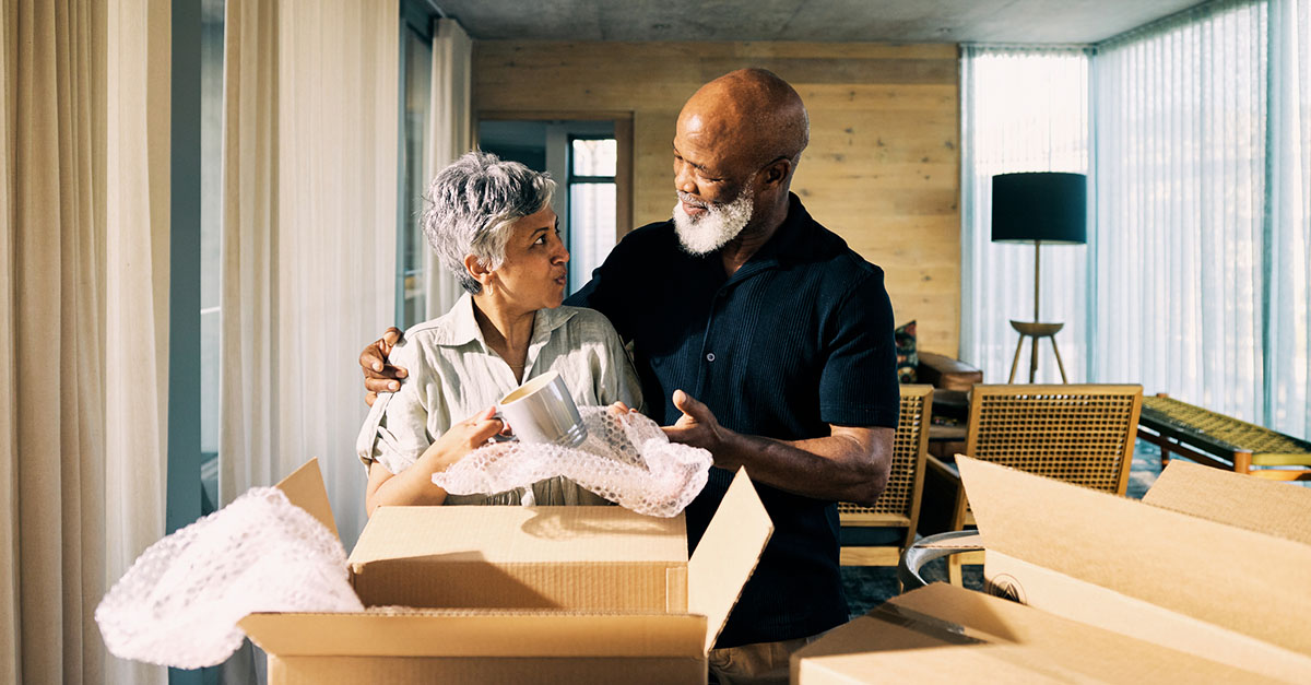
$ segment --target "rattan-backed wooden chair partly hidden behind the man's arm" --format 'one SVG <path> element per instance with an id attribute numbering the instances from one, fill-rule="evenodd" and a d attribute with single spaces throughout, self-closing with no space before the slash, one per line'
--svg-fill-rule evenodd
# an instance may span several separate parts
<path id="1" fill-rule="evenodd" d="M 888 488 L 873 507 L 838 503 L 842 566 L 897 566 L 915 542 L 932 409 L 933 386 L 901 386 L 901 419 Z"/>

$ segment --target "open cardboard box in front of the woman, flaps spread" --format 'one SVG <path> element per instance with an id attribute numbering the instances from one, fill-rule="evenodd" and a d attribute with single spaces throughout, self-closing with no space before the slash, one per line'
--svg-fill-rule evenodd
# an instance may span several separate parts
<path id="1" fill-rule="evenodd" d="M 316 462 L 279 487 L 336 533 Z M 380 508 L 347 563 L 372 609 L 250 614 L 241 629 L 269 654 L 270 684 L 705 682 L 772 531 L 745 471 L 691 559 L 682 516 Z"/>

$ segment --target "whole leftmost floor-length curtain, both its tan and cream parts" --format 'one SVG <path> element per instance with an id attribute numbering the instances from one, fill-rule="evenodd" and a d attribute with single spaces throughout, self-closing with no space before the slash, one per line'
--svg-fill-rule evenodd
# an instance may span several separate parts
<path id="1" fill-rule="evenodd" d="M 164 676 L 109 660 L 92 612 L 125 560 L 163 533 L 168 21 L 166 5 L 144 0 L 0 9 L 9 682 Z M 143 38 L 159 26 L 163 42 Z"/>

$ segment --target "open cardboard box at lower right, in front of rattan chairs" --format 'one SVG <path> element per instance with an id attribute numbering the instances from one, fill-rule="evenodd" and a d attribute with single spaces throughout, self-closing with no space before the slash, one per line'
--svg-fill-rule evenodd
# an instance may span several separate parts
<path id="1" fill-rule="evenodd" d="M 957 466 L 988 589 L 1028 608 L 961 591 L 909 593 L 885 606 L 979 642 L 889 648 L 901 644 L 886 636 L 895 619 L 876 610 L 863 629 L 853 623 L 797 655 L 801 682 L 834 681 L 821 673 L 843 651 L 867 675 L 848 669 L 846 682 L 882 680 L 885 667 L 958 668 L 966 680 L 1311 681 L 1311 491 L 1175 461 L 1134 501 L 968 457 Z M 1053 621 L 1076 639 L 1058 644 L 1047 636 L 1057 629 L 1033 629 Z M 1129 655 L 1125 671 L 1103 648 L 1112 643 Z M 1158 656 L 1134 656 L 1142 646 Z M 1089 671 L 1087 650 L 1106 661 Z M 808 664 L 819 657 L 823 668 Z"/>

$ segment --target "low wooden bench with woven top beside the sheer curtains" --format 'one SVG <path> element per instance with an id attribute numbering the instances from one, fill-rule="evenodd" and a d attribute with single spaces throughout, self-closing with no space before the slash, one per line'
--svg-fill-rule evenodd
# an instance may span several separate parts
<path id="1" fill-rule="evenodd" d="M 1311 480 L 1311 442 L 1167 395 L 1143 398 L 1138 437 L 1197 463 L 1272 480 Z"/>

